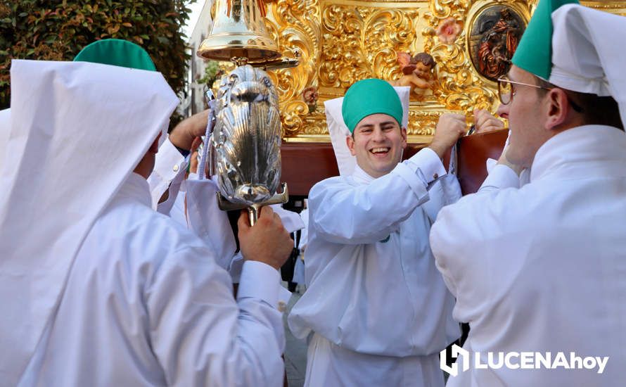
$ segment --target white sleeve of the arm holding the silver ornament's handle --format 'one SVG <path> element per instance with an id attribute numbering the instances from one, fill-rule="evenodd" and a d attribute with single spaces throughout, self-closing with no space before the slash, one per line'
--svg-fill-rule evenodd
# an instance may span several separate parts
<path id="1" fill-rule="evenodd" d="M 279 272 L 247 261 L 238 297 L 210 250 L 168 257 L 146 288 L 153 352 L 172 386 L 282 386 Z"/>

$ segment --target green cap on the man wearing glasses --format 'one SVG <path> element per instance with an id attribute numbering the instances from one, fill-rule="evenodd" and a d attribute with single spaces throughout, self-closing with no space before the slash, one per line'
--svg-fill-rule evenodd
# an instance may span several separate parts
<path id="1" fill-rule="evenodd" d="M 552 13 L 577 0 L 539 0 L 511 61 L 518 68 L 549 80 L 552 72 Z"/>

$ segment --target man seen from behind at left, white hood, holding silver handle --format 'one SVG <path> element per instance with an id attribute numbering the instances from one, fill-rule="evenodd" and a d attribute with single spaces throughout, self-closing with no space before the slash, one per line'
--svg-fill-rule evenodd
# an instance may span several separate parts
<path id="1" fill-rule="evenodd" d="M 242 215 L 234 300 L 210 244 L 151 208 L 146 177 L 177 97 L 145 51 L 108 44 L 119 66 L 12 64 L 1 383 L 281 386 L 277 269 L 293 242 L 271 209 L 255 227 Z"/>

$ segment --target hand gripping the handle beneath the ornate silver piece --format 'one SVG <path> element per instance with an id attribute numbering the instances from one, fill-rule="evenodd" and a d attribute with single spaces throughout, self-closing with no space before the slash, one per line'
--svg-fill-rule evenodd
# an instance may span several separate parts
<path id="1" fill-rule="evenodd" d="M 293 248 L 293 239 L 283 227 L 283 222 L 271 207 L 261 208 L 259 219 L 250 227 L 248 210 L 241 211 L 239 227 L 239 246 L 245 260 L 267 263 L 278 270 L 289 258 Z"/>

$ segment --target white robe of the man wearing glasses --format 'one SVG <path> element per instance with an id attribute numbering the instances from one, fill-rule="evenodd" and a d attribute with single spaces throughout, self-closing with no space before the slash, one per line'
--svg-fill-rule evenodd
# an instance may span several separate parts
<path id="1" fill-rule="evenodd" d="M 609 356 L 606 369 L 470 367 L 448 386 L 623 386 L 626 134 L 568 129 L 539 148 L 530 173 L 518 189 L 497 165 L 433 225 L 454 318 L 471 326 L 464 348 L 483 362 L 487 351 Z"/>

